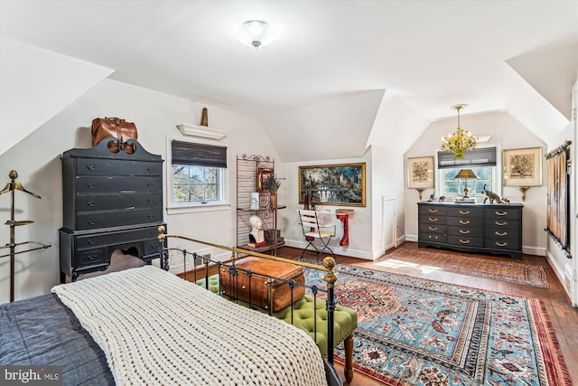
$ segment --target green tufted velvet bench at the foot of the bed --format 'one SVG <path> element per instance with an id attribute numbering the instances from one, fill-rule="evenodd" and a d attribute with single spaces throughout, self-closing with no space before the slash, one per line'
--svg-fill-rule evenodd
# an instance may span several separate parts
<path id="1" fill-rule="evenodd" d="M 205 286 L 205 278 L 197 280 L 197 285 Z M 219 275 L 209 277 L 209 290 L 215 294 L 219 294 Z M 226 295 L 221 295 L 227 297 Z M 241 306 L 249 306 L 247 302 L 237 301 Z M 313 311 L 315 305 L 315 312 Z M 256 310 L 268 314 L 267 310 L 256 308 Z M 293 323 L 291 320 L 291 306 L 274 312 L 271 315 L 277 319 L 284 320 L 289 324 L 303 330 L 309 334 L 315 343 L 318 345 L 322 355 L 327 354 L 327 310 L 325 309 L 325 301 L 317 299 L 313 302 L 313 297 L 305 295 L 293 304 Z M 314 320 L 313 315 L 317 315 L 317 334 L 314 334 Z M 345 349 L 345 379 L 351 381 L 353 379 L 353 330 L 358 326 L 358 314 L 350 308 L 337 305 L 333 313 L 333 347 L 337 347 L 341 342 Z"/>

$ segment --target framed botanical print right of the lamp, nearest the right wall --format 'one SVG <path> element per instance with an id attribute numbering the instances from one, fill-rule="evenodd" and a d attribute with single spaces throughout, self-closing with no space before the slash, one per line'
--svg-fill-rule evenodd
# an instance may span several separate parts
<path id="1" fill-rule="evenodd" d="M 504 186 L 542 185 L 542 147 L 509 149 L 502 153 Z"/>

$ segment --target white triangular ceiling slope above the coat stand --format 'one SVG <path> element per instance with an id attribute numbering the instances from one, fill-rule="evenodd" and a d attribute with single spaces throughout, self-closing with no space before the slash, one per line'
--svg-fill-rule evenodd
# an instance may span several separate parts
<path id="1" fill-rule="evenodd" d="M 0 39 L 0 155 L 113 71 L 11 39 Z"/>

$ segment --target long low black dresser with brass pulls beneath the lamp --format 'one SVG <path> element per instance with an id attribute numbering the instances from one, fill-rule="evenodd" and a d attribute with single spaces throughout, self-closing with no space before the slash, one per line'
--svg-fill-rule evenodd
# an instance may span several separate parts
<path id="1" fill-rule="evenodd" d="M 522 259 L 522 204 L 417 202 L 417 246 Z"/>

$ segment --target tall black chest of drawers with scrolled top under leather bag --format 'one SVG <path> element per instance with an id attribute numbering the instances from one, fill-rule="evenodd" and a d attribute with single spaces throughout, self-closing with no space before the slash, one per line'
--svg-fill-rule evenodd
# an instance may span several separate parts
<path id="1" fill-rule="evenodd" d="M 134 154 L 111 153 L 109 140 L 114 138 L 61 157 L 61 282 L 106 269 L 115 249 L 149 263 L 161 257 L 163 159 L 133 140 L 128 143 L 135 144 Z"/>

